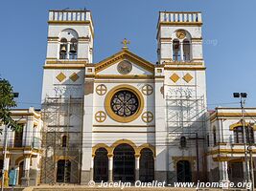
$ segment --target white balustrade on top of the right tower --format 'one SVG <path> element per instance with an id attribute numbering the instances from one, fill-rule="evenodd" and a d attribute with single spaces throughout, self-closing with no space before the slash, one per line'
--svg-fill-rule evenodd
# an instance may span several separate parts
<path id="1" fill-rule="evenodd" d="M 201 12 L 160 12 L 160 22 L 201 23 Z"/>

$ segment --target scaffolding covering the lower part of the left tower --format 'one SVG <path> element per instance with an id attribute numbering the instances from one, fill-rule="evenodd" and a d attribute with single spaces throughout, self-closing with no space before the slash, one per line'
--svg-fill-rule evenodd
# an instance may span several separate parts
<path id="1" fill-rule="evenodd" d="M 82 98 L 45 98 L 41 183 L 80 182 L 82 105 Z"/>

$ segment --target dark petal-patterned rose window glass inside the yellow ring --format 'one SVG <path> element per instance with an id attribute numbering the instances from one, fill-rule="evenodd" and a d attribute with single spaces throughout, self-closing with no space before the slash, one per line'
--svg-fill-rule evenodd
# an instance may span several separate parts
<path id="1" fill-rule="evenodd" d="M 112 111 L 120 117 L 132 116 L 139 107 L 138 97 L 127 90 L 117 92 L 112 97 L 110 104 Z"/>

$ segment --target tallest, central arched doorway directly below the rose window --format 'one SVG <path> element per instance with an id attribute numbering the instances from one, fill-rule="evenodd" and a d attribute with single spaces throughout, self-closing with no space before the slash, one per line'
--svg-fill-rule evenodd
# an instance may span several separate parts
<path id="1" fill-rule="evenodd" d="M 135 180 L 134 150 L 128 144 L 120 144 L 114 150 L 114 181 Z"/>

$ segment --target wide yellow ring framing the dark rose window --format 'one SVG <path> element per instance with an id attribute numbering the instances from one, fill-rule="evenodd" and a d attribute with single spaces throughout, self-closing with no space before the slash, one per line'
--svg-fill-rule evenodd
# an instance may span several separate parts
<path id="1" fill-rule="evenodd" d="M 110 101 L 112 96 L 114 96 L 117 92 L 122 91 L 122 90 L 128 90 L 130 92 L 132 92 L 133 94 L 135 94 L 138 98 L 139 101 L 139 105 L 138 105 L 138 110 L 137 112 L 130 116 L 130 117 L 120 117 L 117 116 L 111 109 L 110 107 Z M 107 95 L 105 96 L 105 111 L 106 114 L 111 117 L 113 120 L 118 121 L 118 122 L 122 122 L 122 123 L 128 123 L 132 120 L 135 120 L 137 117 L 139 117 L 142 113 L 144 109 L 144 97 L 142 96 L 142 94 L 140 93 L 140 91 L 138 89 L 136 89 L 133 86 L 127 85 L 127 84 L 122 84 L 119 86 L 114 87 L 112 90 L 110 90 Z"/>

